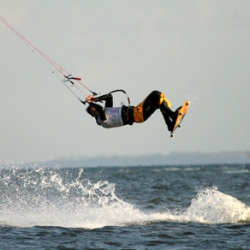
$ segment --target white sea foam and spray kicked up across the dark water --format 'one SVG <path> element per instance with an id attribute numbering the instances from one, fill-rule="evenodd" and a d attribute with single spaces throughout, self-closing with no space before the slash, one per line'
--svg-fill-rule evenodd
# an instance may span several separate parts
<path id="1" fill-rule="evenodd" d="M 93 182 L 65 171 L 8 172 L 1 179 L 0 224 L 19 227 L 60 226 L 99 228 L 157 221 L 196 223 L 250 222 L 250 208 L 236 198 L 207 188 L 188 208 L 152 212 L 141 210 L 115 194 L 115 184 Z M 66 177 L 66 178 L 65 178 Z"/>

